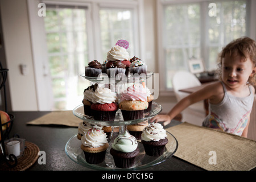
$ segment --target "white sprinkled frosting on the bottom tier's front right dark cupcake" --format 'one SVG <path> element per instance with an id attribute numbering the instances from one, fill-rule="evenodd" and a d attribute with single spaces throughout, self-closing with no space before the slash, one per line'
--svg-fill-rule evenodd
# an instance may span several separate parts
<path id="1" fill-rule="evenodd" d="M 158 142 L 160 139 L 164 139 L 166 137 L 166 130 L 163 129 L 163 126 L 160 123 L 150 123 L 144 128 L 141 135 L 141 139 L 146 142 Z"/>

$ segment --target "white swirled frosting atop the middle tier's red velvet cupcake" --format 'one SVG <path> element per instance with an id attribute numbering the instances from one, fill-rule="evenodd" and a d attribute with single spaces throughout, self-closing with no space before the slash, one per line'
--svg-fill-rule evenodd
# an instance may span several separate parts
<path id="1" fill-rule="evenodd" d="M 105 87 L 98 87 L 92 97 L 92 102 L 94 104 L 111 104 L 112 102 L 118 101 L 117 93 L 112 92 L 110 89 Z"/>

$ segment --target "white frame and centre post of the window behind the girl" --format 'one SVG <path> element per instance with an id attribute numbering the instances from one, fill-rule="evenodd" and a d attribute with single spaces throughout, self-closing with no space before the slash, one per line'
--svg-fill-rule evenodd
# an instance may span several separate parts
<path id="1" fill-rule="evenodd" d="M 226 0 L 226 1 L 233 1 L 233 0 Z M 157 44 L 158 44 L 158 60 L 159 60 L 159 67 L 158 67 L 158 72 L 162 73 L 159 74 L 159 94 L 160 96 L 175 96 L 174 95 L 174 90 L 172 88 L 167 88 L 167 77 L 166 77 L 166 66 L 165 66 L 165 53 L 164 53 L 164 6 L 167 5 L 178 5 L 178 4 L 183 4 L 183 3 L 200 3 L 200 30 L 201 30 L 201 48 L 200 48 L 200 54 L 201 54 L 201 59 L 204 59 L 205 57 L 208 56 L 208 51 L 207 51 L 207 39 L 208 39 L 208 32 L 207 32 L 207 27 L 205 26 L 207 24 L 207 18 L 204 18 L 208 16 L 208 5 L 209 3 L 212 2 L 210 0 L 160 0 L 156 2 L 156 19 L 157 19 Z M 253 17 L 255 17 L 256 13 L 256 2 L 251 1 L 251 0 L 246 0 L 246 34 L 250 38 L 254 39 L 256 38 L 256 28 L 255 26 L 251 26 L 251 24 L 255 24 L 253 22 Z M 206 65 L 208 63 L 205 63 Z"/>

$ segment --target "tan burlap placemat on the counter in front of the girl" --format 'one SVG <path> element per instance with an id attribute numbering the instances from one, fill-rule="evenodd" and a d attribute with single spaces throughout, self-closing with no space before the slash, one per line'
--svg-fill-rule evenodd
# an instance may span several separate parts
<path id="1" fill-rule="evenodd" d="M 174 154 L 210 171 L 247 171 L 256 167 L 256 141 L 189 123 L 166 129 L 179 142 Z"/>

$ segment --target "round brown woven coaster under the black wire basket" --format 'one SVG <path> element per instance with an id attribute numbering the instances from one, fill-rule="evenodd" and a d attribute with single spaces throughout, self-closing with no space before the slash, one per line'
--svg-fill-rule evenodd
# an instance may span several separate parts
<path id="1" fill-rule="evenodd" d="M 0 171 L 24 171 L 38 160 L 38 146 L 31 142 L 26 142 L 25 145 L 27 148 L 25 148 L 24 154 L 18 158 L 18 164 L 15 167 L 10 168 L 6 163 L 3 163 L 0 167 Z"/>

